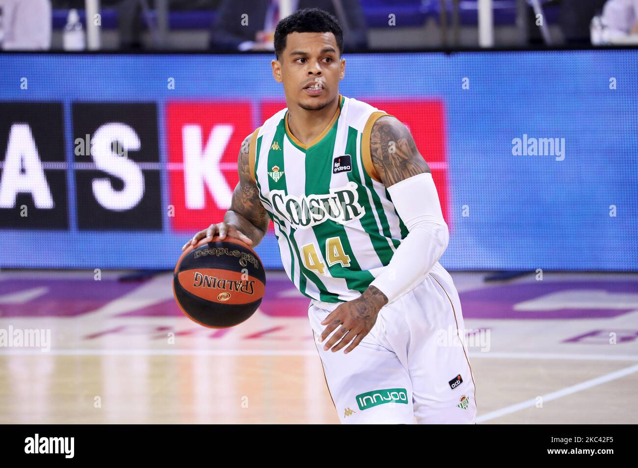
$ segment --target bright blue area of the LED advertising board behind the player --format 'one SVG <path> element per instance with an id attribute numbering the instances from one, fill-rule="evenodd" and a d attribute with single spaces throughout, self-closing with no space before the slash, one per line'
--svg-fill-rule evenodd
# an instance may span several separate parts
<path id="1" fill-rule="evenodd" d="M 445 104 L 452 238 L 443 266 L 638 270 L 638 50 L 344 57 L 345 96 Z M 256 127 L 262 123 L 260 101 L 283 99 L 271 59 L 3 53 L 0 101 L 62 102 L 69 163 L 71 103 L 156 102 L 165 163 L 167 99 L 248 99 Z M 174 90 L 167 89 L 168 76 L 175 78 Z M 28 77 L 28 90 L 20 89 L 22 77 Z M 461 88 L 465 77 L 468 90 Z M 617 89 L 609 88 L 610 78 Z M 512 155 L 512 139 L 523 134 L 565 138 L 565 159 Z M 0 230 L 0 267 L 174 266 L 188 234 L 172 232 L 167 222 L 161 232 L 80 232 L 71 174 L 67 180 L 70 229 Z M 166 206 L 165 171 L 162 181 Z M 152 255 L 140 255 L 149 246 Z M 267 268 L 281 267 L 274 236 L 256 252 Z"/>

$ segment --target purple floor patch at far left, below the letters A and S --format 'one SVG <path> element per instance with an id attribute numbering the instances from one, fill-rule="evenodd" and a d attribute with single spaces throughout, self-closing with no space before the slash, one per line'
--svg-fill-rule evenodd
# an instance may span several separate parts
<path id="1" fill-rule="evenodd" d="M 93 273 L 87 273 L 87 280 L 27 279 L 10 278 L 0 281 L 0 318 L 6 317 L 75 317 L 94 311 L 114 301 L 118 297 L 140 287 L 140 283 L 117 280 L 93 280 Z M 38 290 L 45 288 L 42 294 Z M 33 292 L 33 297 L 29 295 Z M 7 295 L 24 294 L 25 299 Z M 3 296 L 5 299 L 3 301 Z"/>

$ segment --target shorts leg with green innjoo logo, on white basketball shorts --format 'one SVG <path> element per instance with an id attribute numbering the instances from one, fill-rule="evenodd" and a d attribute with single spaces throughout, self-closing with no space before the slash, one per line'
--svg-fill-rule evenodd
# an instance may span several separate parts
<path id="1" fill-rule="evenodd" d="M 308 310 L 315 346 L 339 420 L 344 424 L 414 423 L 412 384 L 396 354 L 366 336 L 350 353 L 324 351 L 319 342 L 328 311 Z"/>

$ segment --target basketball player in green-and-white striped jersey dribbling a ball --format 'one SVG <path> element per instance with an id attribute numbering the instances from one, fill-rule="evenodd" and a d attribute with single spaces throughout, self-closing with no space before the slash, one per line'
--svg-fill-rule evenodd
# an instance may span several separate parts
<path id="1" fill-rule="evenodd" d="M 246 137 L 223 222 L 184 249 L 217 234 L 256 246 L 272 220 L 286 273 L 311 299 L 341 422 L 475 423 L 461 303 L 438 262 L 449 233 L 426 161 L 397 118 L 339 94 L 343 33 L 329 13 L 284 18 L 274 45 L 288 107 Z"/>

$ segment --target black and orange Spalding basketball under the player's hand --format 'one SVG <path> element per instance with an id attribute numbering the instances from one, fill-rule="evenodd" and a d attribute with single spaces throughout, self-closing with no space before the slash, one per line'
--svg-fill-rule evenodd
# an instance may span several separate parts
<path id="1" fill-rule="evenodd" d="M 177 261 L 173 294 L 184 314 L 211 328 L 234 327 L 262 303 L 266 274 L 262 260 L 234 238 L 200 241 Z"/>

